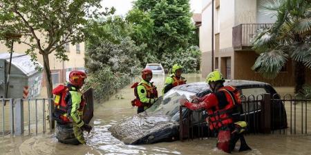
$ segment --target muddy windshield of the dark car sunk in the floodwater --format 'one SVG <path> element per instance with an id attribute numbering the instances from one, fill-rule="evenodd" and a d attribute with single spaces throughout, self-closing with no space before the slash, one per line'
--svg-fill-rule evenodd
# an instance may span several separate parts
<path id="1" fill-rule="evenodd" d="M 164 96 L 160 96 L 160 98 L 153 103 L 153 105 L 146 110 L 147 114 L 151 113 L 162 113 L 165 116 L 168 116 L 171 121 L 179 121 L 179 107 L 180 99 L 188 99 L 190 100 L 190 96 L 194 95 L 193 92 L 187 92 L 183 90 L 169 90 Z M 185 111 L 184 108 L 182 111 Z"/>

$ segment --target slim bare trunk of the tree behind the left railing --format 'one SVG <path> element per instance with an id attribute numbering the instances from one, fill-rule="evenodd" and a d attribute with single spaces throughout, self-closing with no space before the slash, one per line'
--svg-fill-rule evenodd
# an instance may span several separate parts
<path id="1" fill-rule="evenodd" d="M 53 83 L 50 77 L 50 61 L 48 60 L 48 54 L 42 54 L 42 56 L 44 58 L 44 73 L 46 74 L 46 91 L 48 94 L 48 98 L 53 98 Z"/>

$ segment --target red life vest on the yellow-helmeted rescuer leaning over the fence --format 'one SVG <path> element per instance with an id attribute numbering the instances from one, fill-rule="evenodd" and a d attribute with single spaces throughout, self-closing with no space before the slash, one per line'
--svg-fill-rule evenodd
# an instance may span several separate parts
<path id="1" fill-rule="evenodd" d="M 238 113 L 238 107 L 241 106 L 240 92 L 235 87 L 221 87 L 214 94 L 218 99 L 218 105 L 207 110 L 209 128 L 211 130 L 234 123 L 232 114 Z"/>

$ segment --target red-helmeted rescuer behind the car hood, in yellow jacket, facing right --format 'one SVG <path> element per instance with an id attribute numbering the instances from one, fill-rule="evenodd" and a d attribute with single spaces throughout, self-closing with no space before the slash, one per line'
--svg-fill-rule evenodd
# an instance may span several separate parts
<path id="1" fill-rule="evenodd" d="M 138 106 L 137 113 L 144 112 L 158 99 L 158 91 L 156 86 L 151 83 L 152 71 L 149 69 L 142 70 L 142 81 L 135 83 L 134 93 L 136 99 L 132 101 L 132 105 Z"/>

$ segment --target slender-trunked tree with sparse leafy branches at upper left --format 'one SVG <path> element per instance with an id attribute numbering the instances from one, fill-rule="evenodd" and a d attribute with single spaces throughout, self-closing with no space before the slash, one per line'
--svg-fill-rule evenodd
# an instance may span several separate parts
<path id="1" fill-rule="evenodd" d="M 53 97 L 48 55 L 68 60 L 64 44 L 84 41 L 87 18 L 114 11 L 106 8 L 106 12 L 97 13 L 100 0 L 1 0 L 0 7 L 1 34 L 22 34 L 19 43 L 28 45 L 26 54 L 32 61 L 37 60 L 37 53 L 43 56 L 48 97 Z"/>

